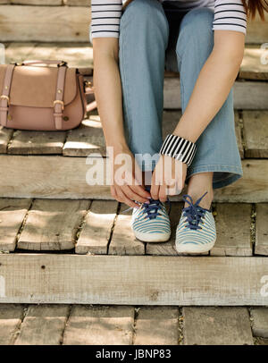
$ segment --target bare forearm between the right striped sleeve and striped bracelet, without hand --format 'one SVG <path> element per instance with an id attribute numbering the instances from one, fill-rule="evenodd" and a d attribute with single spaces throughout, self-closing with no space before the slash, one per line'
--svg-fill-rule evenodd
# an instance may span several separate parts
<path id="1" fill-rule="evenodd" d="M 206 60 L 188 106 L 173 131 L 196 142 L 230 93 L 244 55 L 245 35 L 239 31 L 215 30 L 214 49 Z"/>

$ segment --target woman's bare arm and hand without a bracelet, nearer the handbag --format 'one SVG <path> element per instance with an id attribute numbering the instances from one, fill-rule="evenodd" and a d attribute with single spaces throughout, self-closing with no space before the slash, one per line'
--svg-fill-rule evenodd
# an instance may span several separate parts
<path id="1" fill-rule="evenodd" d="M 124 135 L 118 38 L 93 38 L 93 53 L 96 103 L 106 147 L 113 148 L 113 156 L 109 155 L 113 175 L 116 175 L 116 170 L 121 167 L 114 165 L 115 157 L 122 154 L 128 156 L 128 161 L 124 165 L 126 173 L 123 175 L 128 182 L 122 185 L 113 179 L 111 193 L 113 198 L 128 206 L 139 207 L 134 200 L 145 203 L 150 194 L 137 183 L 138 165 L 135 164 Z"/>

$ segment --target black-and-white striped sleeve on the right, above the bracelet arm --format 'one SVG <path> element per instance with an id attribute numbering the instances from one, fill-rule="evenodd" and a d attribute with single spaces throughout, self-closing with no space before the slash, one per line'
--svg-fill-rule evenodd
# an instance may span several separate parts
<path id="1" fill-rule="evenodd" d="M 241 0 L 216 0 L 213 30 L 235 30 L 246 34 L 247 13 Z"/>

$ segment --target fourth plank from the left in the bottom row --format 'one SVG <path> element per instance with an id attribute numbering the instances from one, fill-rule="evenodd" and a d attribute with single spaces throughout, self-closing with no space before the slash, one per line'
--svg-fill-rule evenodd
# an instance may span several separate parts
<path id="1" fill-rule="evenodd" d="M 135 345 L 176 345 L 179 341 L 178 308 L 138 308 Z"/>

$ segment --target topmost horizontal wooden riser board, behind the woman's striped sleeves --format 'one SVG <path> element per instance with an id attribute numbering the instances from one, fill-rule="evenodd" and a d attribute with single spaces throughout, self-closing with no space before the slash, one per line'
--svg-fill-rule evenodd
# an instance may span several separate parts
<path id="1" fill-rule="evenodd" d="M 5 0 L 4 4 L 0 5 L 2 41 L 88 42 L 89 3 L 86 0 L 77 2 L 70 0 L 67 1 L 67 6 L 61 6 L 64 3 L 59 0 L 45 3 L 38 0 L 10 3 Z M 79 6 L 71 6 L 72 4 Z M 27 21 L 21 22 L 21 18 Z M 260 21 L 257 17 L 255 21 L 249 22 L 247 43 L 264 43 L 267 38 L 268 29 L 264 21 Z"/>

